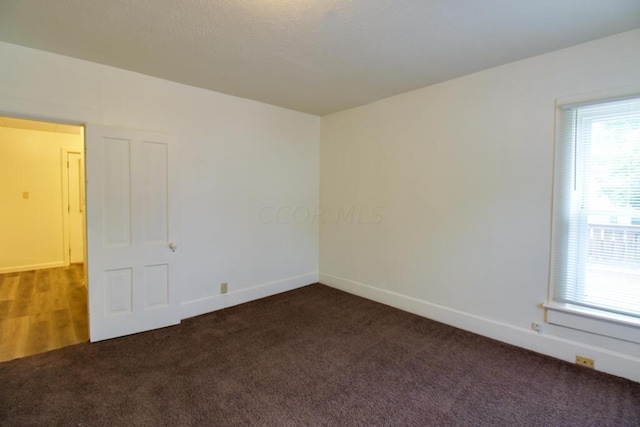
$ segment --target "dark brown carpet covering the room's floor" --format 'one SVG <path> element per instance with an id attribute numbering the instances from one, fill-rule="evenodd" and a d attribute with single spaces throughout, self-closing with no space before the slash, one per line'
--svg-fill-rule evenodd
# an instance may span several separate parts
<path id="1" fill-rule="evenodd" d="M 640 425 L 640 383 L 322 285 L 0 364 L 1 425 Z"/>

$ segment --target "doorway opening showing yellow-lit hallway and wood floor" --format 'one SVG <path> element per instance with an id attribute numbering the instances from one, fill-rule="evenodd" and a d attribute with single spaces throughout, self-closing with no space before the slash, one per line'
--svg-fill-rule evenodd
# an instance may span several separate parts
<path id="1" fill-rule="evenodd" d="M 88 341 L 84 128 L 0 116 L 0 362 Z"/>

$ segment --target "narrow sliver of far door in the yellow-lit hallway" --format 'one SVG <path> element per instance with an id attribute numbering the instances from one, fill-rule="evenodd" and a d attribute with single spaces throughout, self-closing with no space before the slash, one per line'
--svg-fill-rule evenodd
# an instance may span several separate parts
<path id="1" fill-rule="evenodd" d="M 82 153 L 67 151 L 69 260 L 84 262 L 84 166 Z"/>

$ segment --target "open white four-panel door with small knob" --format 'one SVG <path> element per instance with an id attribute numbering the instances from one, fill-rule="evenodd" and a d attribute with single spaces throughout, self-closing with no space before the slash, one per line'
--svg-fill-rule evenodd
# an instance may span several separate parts
<path id="1" fill-rule="evenodd" d="M 91 341 L 179 323 L 175 147 L 166 135 L 96 125 L 86 142 Z"/>

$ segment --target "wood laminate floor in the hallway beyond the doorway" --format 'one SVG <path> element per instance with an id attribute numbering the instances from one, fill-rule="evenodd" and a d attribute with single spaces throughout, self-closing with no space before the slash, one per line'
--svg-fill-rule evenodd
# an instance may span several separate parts
<path id="1" fill-rule="evenodd" d="M 83 264 L 0 274 L 0 362 L 88 340 Z"/>

